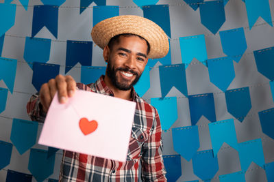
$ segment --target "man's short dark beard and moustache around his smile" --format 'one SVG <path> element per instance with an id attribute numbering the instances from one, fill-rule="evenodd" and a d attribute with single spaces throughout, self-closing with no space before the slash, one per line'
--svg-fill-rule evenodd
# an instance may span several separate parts
<path id="1" fill-rule="evenodd" d="M 127 84 L 127 81 L 119 82 L 116 76 L 116 73 L 119 71 L 131 72 L 132 74 L 136 75 L 136 77 L 131 84 Z M 112 85 L 114 85 L 114 87 L 122 91 L 128 91 L 129 89 L 132 89 L 132 87 L 136 84 L 136 82 L 138 82 L 140 76 L 142 75 L 142 73 L 138 74 L 137 72 L 134 72 L 133 70 L 129 70 L 129 68 L 118 67 L 114 70 L 114 67 L 111 64 L 110 59 L 108 61 L 106 74 L 108 75 L 108 78 L 110 78 Z"/>

